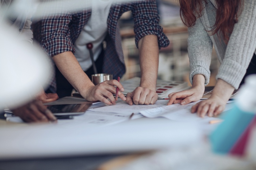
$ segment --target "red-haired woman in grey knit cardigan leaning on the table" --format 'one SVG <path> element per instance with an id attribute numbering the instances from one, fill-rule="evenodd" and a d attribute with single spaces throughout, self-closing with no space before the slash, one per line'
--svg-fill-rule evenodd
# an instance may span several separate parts
<path id="1" fill-rule="evenodd" d="M 198 101 L 209 83 L 212 47 L 221 62 L 209 99 L 191 109 L 201 117 L 221 113 L 234 89 L 256 73 L 255 0 L 180 0 L 182 21 L 188 27 L 189 80 L 192 88 L 169 94 L 169 103 Z"/>

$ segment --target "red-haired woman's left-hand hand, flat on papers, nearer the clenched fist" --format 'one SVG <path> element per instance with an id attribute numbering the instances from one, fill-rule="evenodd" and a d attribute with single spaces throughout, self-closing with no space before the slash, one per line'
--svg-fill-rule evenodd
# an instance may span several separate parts
<path id="1" fill-rule="evenodd" d="M 192 87 L 189 90 L 184 90 L 180 92 L 174 92 L 168 95 L 169 102 L 167 105 L 181 103 L 181 105 L 188 104 L 190 102 L 196 102 L 200 100 L 203 96 L 204 88 L 200 86 Z"/>

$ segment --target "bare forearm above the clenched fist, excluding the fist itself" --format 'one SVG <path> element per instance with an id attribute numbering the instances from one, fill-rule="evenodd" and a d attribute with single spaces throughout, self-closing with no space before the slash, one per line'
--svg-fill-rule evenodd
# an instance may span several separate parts
<path id="1" fill-rule="evenodd" d="M 141 87 L 156 91 L 156 79 L 159 62 L 159 47 L 157 36 L 146 35 L 139 44 Z"/>

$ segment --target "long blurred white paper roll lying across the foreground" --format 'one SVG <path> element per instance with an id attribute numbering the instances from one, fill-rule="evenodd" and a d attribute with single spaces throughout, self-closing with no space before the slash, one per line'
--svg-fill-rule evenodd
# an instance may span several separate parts
<path id="1" fill-rule="evenodd" d="M 0 159 L 127 153 L 198 146 L 203 140 L 196 124 L 159 118 L 93 129 L 75 121 L 13 126 L 0 129 L 0 136 Z"/>

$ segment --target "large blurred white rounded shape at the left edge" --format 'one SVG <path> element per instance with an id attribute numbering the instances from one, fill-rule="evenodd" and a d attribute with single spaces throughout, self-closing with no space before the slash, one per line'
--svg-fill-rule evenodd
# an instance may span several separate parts
<path id="1" fill-rule="evenodd" d="M 53 72 L 42 50 L 20 41 L 14 33 L 0 25 L 0 110 L 31 100 L 48 84 Z"/>

